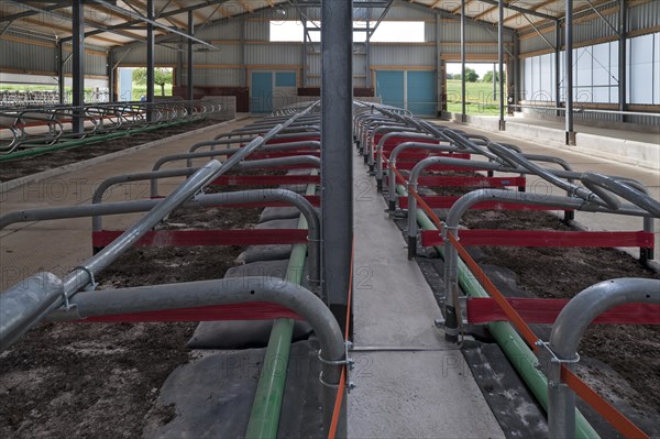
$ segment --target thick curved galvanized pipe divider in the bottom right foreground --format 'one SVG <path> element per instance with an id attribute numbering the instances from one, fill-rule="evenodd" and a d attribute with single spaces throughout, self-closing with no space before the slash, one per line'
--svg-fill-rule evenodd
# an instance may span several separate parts
<path id="1" fill-rule="evenodd" d="M 645 278 L 617 278 L 601 282 L 583 289 L 561 310 L 546 347 L 550 354 L 548 375 L 548 430 L 549 437 L 575 437 L 575 393 L 561 377 L 562 367 L 569 371 L 580 360 L 578 344 L 588 325 L 601 314 L 615 306 L 642 303 L 660 304 L 660 281 Z M 541 351 L 543 353 L 543 351 Z"/>

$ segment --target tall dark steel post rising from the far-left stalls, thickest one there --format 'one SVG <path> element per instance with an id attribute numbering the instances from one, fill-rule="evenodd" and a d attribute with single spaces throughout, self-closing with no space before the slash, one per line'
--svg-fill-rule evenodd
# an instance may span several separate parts
<path id="1" fill-rule="evenodd" d="M 82 0 L 72 2 L 73 13 L 73 97 L 72 105 L 80 107 L 85 105 L 85 8 Z M 72 129 L 75 133 L 85 131 L 85 120 L 81 110 L 74 111 Z"/>

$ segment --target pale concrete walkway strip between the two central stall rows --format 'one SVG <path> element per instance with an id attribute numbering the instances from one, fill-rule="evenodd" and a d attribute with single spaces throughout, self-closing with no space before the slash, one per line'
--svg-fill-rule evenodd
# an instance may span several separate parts
<path id="1" fill-rule="evenodd" d="M 433 294 L 358 155 L 353 173 L 354 345 L 374 350 L 352 354 L 349 437 L 503 438 L 463 355 L 435 328 Z"/>

